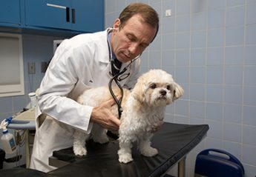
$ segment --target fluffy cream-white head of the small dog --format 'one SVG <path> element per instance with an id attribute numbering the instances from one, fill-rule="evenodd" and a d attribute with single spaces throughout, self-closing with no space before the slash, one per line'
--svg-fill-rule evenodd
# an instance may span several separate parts
<path id="1" fill-rule="evenodd" d="M 141 103 L 159 107 L 171 104 L 183 95 L 183 88 L 163 70 L 149 70 L 137 81 L 132 94 Z"/>

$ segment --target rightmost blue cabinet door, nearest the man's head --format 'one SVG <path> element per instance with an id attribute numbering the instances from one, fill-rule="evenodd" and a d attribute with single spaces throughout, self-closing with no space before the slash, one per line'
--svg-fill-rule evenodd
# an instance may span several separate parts
<path id="1" fill-rule="evenodd" d="M 72 1 L 72 30 L 96 32 L 104 30 L 104 0 Z"/>

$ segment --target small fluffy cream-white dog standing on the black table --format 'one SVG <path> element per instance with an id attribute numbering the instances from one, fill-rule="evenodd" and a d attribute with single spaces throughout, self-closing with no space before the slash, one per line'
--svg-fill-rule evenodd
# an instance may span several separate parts
<path id="1" fill-rule="evenodd" d="M 119 89 L 114 88 L 115 95 Z M 143 156 L 157 155 L 157 149 L 151 147 L 151 137 L 154 128 L 160 127 L 165 115 L 165 107 L 183 95 L 183 88 L 177 84 L 172 76 L 163 70 L 150 70 L 144 73 L 130 92 L 124 89 L 122 99 L 122 116 L 119 127 L 119 162 L 132 161 L 131 147 L 134 141 Z M 78 98 L 80 104 L 93 107 L 99 106 L 103 101 L 111 99 L 108 87 L 96 87 L 85 90 Z M 111 107 L 112 113 L 118 116 L 116 104 Z M 74 133 L 73 152 L 77 156 L 86 155 L 85 139 L 89 135 L 76 130 Z M 91 131 L 93 141 L 101 144 L 108 142 L 106 130 L 93 124 Z"/>

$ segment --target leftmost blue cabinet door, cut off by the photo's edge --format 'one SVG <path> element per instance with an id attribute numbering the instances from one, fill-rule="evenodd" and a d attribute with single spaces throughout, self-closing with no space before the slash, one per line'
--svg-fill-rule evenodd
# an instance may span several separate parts
<path id="1" fill-rule="evenodd" d="M 21 24 L 20 0 L 1 0 L 0 23 Z"/>

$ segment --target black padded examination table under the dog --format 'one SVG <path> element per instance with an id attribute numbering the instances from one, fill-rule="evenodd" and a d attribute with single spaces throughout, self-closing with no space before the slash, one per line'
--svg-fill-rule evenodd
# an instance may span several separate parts
<path id="1" fill-rule="evenodd" d="M 108 144 L 98 144 L 88 141 L 88 154 L 79 158 L 73 155 L 72 147 L 53 152 L 49 163 L 58 167 L 49 173 L 39 173 L 38 176 L 90 176 L 90 177 L 146 177 L 163 176 L 168 169 L 178 163 L 179 176 L 185 176 L 186 155 L 206 136 L 207 124 L 188 125 L 165 123 L 152 138 L 152 147 L 156 147 L 159 154 L 154 157 L 140 155 L 137 146 L 132 149 L 134 161 L 121 164 L 118 161 L 118 141 L 111 140 Z M 33 171 L 17 169 L 19 176 L 31 175 Z M 13 173 L 15 170 L 13 171 Z M 10 170 L 0 170 L 0 175 L 15 177 Z M 18 173 L 18 172 L 17 172 Z M 17 174 L 18 175 L 18 174 Z"/>

